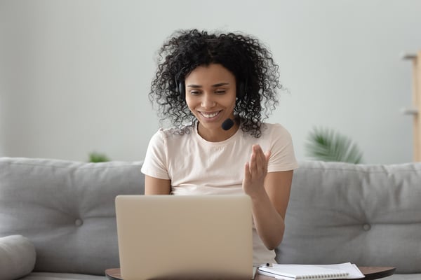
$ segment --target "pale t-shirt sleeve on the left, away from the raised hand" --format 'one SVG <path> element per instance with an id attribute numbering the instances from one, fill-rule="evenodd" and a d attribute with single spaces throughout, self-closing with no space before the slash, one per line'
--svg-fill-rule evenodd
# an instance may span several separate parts
<path id="1" fill-rule="evenodd" d="M 167 167 L 167 149 L 165 134 L 162 130 L 156 132 L 149 141 L 142 173 L 158 179 L 169 180 Z"/>

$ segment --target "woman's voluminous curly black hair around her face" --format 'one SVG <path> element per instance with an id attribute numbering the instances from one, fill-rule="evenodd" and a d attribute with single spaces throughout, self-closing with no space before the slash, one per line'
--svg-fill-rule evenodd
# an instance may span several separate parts
<path id="1" fill-rule="evenodd" d="M 185 96 L 180 94 L 179 84 L 197 66 L 221 64 L 242 85 L 243 94 L 237 99 L 234 115 L 241 120 L 241 130 L 253 137 L 262 134 L 262 120 L 278 104 L 278 65 L 272 54 L 256 38 L 244 34 L 215 33 L 180 30 L 163 43 L 158 51 L 158 67 L 151 83 L 149 100 L 157 105 L 158 116 L 169 120 L 184 133 L 186 123 L 196 123 L 187 107 Z M 188 126 L 187 126 L 188 127 Z"/>

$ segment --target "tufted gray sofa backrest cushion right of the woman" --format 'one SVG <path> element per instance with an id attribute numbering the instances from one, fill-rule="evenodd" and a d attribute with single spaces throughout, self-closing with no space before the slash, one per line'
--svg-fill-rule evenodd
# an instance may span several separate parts
<path id="1" fill-rule="evenodd" d="M 280 263 L 354 262 L 421 272 L 421 162 L 300 162 Z"/>

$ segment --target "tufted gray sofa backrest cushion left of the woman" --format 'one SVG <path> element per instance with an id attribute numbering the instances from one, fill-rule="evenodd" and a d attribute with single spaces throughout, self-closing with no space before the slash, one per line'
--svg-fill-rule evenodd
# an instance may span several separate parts
<path id="1" fill-rule="evenodd" d="M 144 193 L 142 162 L 0 158 L 0 237 L 36 248 L 34 271 L 119 267 L 114 199 Z"/>

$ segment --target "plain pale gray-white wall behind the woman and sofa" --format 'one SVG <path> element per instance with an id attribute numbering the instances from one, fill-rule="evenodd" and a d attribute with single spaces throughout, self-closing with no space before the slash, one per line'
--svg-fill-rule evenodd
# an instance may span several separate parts
<path id="1" fill-rule="evenodd" d="M 368 163 L 412 161 L 418 0 L 1 1 L 0 155 L 140 160 L 158 121 L 147 93 L 175 29 L 244 31 L 274 53 L 283 85 L 269 118 L 305 159 L 312 127 L 352 137 Z"/>

